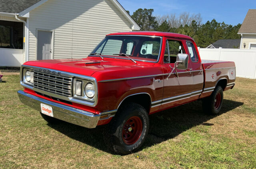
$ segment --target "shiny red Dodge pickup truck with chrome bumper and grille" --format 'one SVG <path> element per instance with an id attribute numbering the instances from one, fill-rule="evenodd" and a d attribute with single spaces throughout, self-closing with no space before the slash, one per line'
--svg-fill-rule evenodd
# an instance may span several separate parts
<path id="1" fill-rule="evenodd" d="M 24 63 L 18 96 L 47 122 L 108 124 L 106 144 L 127 154 L 144 142 L 150 114 L 198 99 L 204 112 L 218 114 L 235 77 L 234 62 L 201 60 L 186 35 L 112 33 L 84 59 Z"/>

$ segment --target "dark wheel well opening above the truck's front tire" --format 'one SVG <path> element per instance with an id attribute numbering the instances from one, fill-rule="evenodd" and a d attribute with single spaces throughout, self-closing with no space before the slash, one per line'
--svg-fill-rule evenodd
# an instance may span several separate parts
<path id="1" fill-rule="evenodd" d="M 122 105 L 128 102 L 134 102 L 134 103 L 140 104 L 142 107 L 146 109 L 148 113 L 150 111 L 151 97 L 149 94 L 143 93 L 143 94 L 135 94 L 135 95 L 129 96 L 122 101 L 119 107 L 121 107 Z"/>

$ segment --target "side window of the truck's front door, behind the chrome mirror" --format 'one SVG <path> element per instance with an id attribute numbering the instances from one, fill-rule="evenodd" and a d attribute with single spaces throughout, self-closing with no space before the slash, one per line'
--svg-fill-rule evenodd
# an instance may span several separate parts
<path id="1" fill-rule="evenodd" d="M 168 40 L 168 44 L 166 42 L 166 49 L 164 53 L 164 63 L 175 63 L 179 53 L 185 53 L 182 43 L 180 41 Z M 168 58 L 168 55 L 170 55 L 170 59 Z"/>

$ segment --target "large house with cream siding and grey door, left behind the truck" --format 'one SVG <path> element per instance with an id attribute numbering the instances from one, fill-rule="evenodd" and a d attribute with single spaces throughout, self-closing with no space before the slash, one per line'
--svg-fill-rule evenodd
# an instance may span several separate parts
<path id="1" fill-rule="evenodd" d="M 0 66 L 86 57 L 106 34 L 133 30 L 117 0 L 1 0 Z"/>

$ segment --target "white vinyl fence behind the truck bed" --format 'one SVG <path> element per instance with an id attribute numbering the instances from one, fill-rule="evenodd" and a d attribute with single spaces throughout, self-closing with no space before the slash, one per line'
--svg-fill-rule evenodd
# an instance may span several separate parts
<path id="1" fill-rule="evenodd" d="M 254 49 L 210 49 L 198 47 L 201 59 L 234 61 L 236 77 L 256 79 L 256 50 Z"/>

